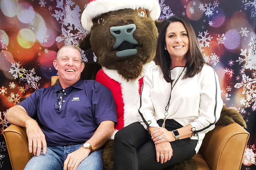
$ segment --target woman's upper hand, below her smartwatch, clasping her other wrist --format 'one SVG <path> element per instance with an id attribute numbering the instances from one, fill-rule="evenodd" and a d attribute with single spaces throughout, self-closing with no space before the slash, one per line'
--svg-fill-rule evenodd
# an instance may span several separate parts
<path id="1" fill-rule="evenodd" d="M 155 128 L 155 130 L 151 133 L 151 139 L 153 140 L 154 144 L 175 141 L 172 132 L 163 127 Z"/>

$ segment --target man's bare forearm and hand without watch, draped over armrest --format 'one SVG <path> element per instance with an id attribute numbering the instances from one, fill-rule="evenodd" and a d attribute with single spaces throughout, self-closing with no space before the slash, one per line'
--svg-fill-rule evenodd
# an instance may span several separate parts
<path id="1" fill-rule="evenodd" d="M 29 117 L 26 110 L 20 106 L 15 105 L 12 108 L 9 108 L 6 115 L 6 120 L 9 123 L 26 127 L 26 133 L 29 140 L 29 152 L 32 153 L 33 147 L 33 154 L 39 156 L 41 153 L 41 147 L 43 147 L 43 153 L 46 153 L 46 140 L 44 133 L 42 132 L 41 128 L 39 127 L 38 123 Z"/>

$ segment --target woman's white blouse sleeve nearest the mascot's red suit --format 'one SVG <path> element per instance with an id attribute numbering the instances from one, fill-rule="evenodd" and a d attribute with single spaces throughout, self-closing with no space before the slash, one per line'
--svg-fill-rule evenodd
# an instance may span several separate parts
<path id="1" fill-rule="evenodd" d="M 151 101 L 150 92 L 153 88 L 153 72 L 148 70 L 143 78 L 143 86 L 141 89 L 140 99 L 138 102 L 138 111 L 140 116 L 138 121 L 147 129 L 150 127 L 158 127 L 157 121 L 154 119 L 154 106 Z"/>

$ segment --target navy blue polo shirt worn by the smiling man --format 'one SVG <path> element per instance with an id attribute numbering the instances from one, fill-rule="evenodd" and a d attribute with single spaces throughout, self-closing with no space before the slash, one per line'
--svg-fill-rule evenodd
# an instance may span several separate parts
<path id="1" fill-rule="evenodd" d="M 55 109 L 59 91 L 63 93 L 60 110 Z M 65 90 L 60 84 L 38 89 L 19 105 L 37 120 L 47 146 L 86 142 L 100 122 L 117 122 L 111 90 L 94 80 L 79 79 Z"/>

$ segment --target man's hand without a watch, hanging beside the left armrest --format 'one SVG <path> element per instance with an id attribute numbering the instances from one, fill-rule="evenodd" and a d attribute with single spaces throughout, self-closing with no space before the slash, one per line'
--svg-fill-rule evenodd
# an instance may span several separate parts
<path id="1" fill-rule="evenodd" d="M 40 156 L 41 147 L 43 147 L 43 153 L 46 153 L 47 144 L 45 140 L 45 136 L 39 125 L 34 119 L 26 122 L 26 133 L 29 140 L 29 152 L 36 156 Z"/>

